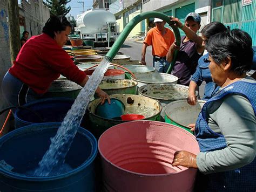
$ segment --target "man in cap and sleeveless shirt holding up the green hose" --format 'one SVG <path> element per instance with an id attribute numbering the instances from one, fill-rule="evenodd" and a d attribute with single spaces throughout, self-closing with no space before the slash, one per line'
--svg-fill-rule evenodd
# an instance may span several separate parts
<path id="1" fill-rule="evenodd" d="M 179 84 L 188 86 L 190 84 L 190 77 L 196 71 L 198 59 L 204 52 L 203 40 L 196 34 L 201 26 L 201 18 L 198 13 L 191 12 L 185 18 L 185 25 L 178 18 L 173 17 L 171 21 L 185 32 L 185 36 L 181 37 L 179 47 L 176 45 L 176 42 L 171 45 L 166 55 L 166 60 L 171 63 L 174 50 L 179 50 L 172 74 L 179 78 Z"/>

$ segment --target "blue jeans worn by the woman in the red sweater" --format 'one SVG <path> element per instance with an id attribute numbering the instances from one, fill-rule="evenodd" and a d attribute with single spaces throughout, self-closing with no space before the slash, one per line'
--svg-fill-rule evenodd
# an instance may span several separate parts
<path id="1" fill-rule="evenodd" d="M 9 72 L 3 78 L 2 93 L 9 106 L 22 106 L 42 97 Z"/>

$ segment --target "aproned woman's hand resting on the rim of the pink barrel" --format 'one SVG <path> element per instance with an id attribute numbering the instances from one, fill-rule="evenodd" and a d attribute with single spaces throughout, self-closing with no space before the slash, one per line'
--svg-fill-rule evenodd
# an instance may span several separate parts
<path id="1" fill-rule="evenodd" d="M 186 152 L 185 150 L 180 150 L 174 153 L 172 166 L 184 166 L 184 167 L 197 167 L 197 155 Z"/>

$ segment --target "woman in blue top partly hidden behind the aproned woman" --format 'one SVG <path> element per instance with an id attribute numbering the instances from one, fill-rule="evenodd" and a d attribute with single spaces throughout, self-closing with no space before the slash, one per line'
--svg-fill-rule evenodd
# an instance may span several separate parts
<path id="1" fill-rule="evenodd" d="M 203 39 L 203 46 L 205 46 L 205 43 L 207 43 L 208 39 L 219 33 L 226 31 L 227 28 L 225 25 L 223 25 L 220 22 L 212 22 L 204 26 L 202 33 L 202 39 Z M 196 72 L 191 77 L 190 81 L 190 88 L 188 92 L 187 102 L 190 105 L 196 105 L 197 97 L 196 97 L 196 90 L 198 86 L 200 86 L 203 81 L 205 81 L 205 90 L 204 90 L 204 100 L 208 100 L 212 98 L 212 96 L 219 90 L 219 86 L 217 86 L 213 81 L 211 77 L 211 73 L 209 70 L 209 60 L 208 60 L 209 54 L 206 53 L 204 56 L 202 56 L 198 60 L 198 66 Z"/>

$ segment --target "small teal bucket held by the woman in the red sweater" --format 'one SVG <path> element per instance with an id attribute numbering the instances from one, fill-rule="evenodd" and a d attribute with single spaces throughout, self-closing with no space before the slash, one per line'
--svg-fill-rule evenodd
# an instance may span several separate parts
<path id="1" fill-rule="evenodd" d="M 125 106 L 123 102 L 119 99 L 114 98 L 110 100 L 111 104 L 109 104 L 107 100 L 104 102 L 103 105 L 98 104 L 95 109 L 95 114 L 105 119 L 120 118 L 120 116 L 123 115 L 125 111 Z"/>

